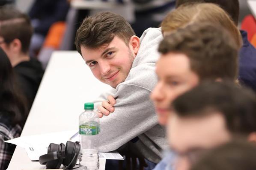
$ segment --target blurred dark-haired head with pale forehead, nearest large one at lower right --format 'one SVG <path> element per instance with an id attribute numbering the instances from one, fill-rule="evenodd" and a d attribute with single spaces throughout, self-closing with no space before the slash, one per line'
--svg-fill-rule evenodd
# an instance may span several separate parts
<path id="1" fill-rule="evenodd" d="M 167 137 L 176 152 L 176 160 L 170 162 L 175 170 L 189 170 L 208 150 L 237 136 L 256 141 L 256 95 L 233 82 L 200 84 L 171 106 Z"/>

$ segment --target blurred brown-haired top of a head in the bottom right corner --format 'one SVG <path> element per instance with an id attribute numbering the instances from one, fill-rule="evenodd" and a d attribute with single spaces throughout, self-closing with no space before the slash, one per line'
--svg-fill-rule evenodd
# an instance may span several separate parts
<path id="1" fill-rule="evenodd" d="M 256 145 L 236 139 L 205 153 L 191 170 L 256 170 Z"/>

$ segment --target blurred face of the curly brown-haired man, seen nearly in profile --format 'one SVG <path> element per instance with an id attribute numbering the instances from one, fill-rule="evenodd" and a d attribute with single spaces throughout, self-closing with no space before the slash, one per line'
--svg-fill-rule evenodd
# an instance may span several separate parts
<path id="1" fill-rule="evenodd" d="M 156 65 L 158 84 L 152 91 L 158 122 L 167 123 L 171 102 L 199 83 L 199 77 L 191 71 L 189 58 L 185 54 L 169 52 L 161 55 Z"/>

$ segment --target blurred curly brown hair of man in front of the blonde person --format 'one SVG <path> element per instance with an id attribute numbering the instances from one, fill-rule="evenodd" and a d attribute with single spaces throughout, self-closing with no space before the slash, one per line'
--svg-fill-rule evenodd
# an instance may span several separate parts
<path id="1" fill-rule="evenodd" d="M 229 79 L 238 74 L 238 49 L 229 32 L 212 23 L 193 23 L 164 37 L 161 54 L 182 53 L 200 81 Z"/>

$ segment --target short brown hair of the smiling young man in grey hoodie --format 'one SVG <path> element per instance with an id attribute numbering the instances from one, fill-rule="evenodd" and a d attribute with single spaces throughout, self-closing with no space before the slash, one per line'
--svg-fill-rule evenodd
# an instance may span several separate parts
<path id="1" fill-rule="evenodd" d="M 134 30 L 124 17 L 112 12 L 101 12 L 83 20 L 77 29 L 75 45 L 81 54 L 81 46 L 97 49 L 109 44 L 115 36 L 128 45 L 133 35 Z"/>

